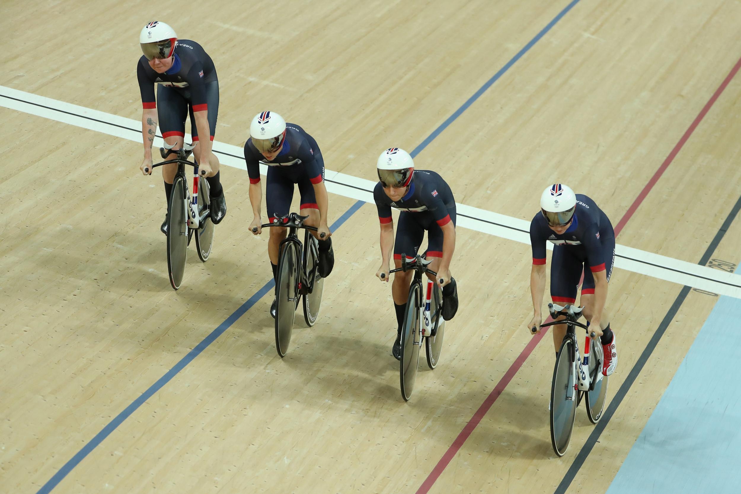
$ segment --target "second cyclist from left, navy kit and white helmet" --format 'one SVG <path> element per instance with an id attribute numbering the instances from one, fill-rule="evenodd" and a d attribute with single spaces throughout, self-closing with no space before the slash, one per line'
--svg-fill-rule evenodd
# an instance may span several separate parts
<path id="1" fill-rule="evenodd" d="M 301 194 L 299 214 L 309 216 L 305 224 L 317 229 L 312 235 L 319 241 L 319 276 L 327 278 L 334 266 L 334 252 L 330 238 L 332 233 L 327 226 L 328 196 L 324 183 L 324 158 L 319 145 L 305 130 L 296 124 L 287 124 L 278 113 L 262 112 L 250 124 L 250 138 L 245 143 L 245 161 L 250 176 L 250 204 L 254 215 L 250 232 L 254 235 L 262 233 L 260 164 L 267 164 L 265 201 L 268 221 L 288 215 L 293 199 L 293 184 L 298 184 Z M 324 238 L 322 233 L 325 234 Z M 278 249 L 287 234 L 287 228 L 270 228 L 268 257 L 276 285 Z M 270 306 L 270 316 L 276 316 L 275 299 Z"/>

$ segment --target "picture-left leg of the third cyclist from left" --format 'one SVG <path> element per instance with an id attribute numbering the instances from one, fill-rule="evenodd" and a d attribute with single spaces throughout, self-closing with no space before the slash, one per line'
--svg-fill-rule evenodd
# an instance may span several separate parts
<path id="1" fill-rule="evenodd" d="M 402 254 L 407 258 L 413 258 L 416 256 L 420 244 L 422 244 L 425 229 L 422 224 L 419 224 L 416 217 L 419 214 L 409 213 L 408 211 L 402 211 L 399 214 L 399 224 L 396 225 L 396 241 L 393 245 L 393 264 L 396 267 L 402 267 Z M 393 273 L 393 281 L 391 282 L 391 297 L 396 312 L 396 341 L 393 343 L 391 352 L 397 359 L 401 358 L 402 324 L 407 310 L 409 286 L 413 277 L 413 271 L 407 271 L 406 273 L 399 271 Z"/>

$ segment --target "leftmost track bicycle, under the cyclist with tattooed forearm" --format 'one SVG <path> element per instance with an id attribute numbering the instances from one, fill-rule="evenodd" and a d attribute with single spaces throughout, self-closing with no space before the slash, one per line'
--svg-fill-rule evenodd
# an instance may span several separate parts
<path id="1" fill-rule="evenodd" d="M 177 290 L 182 283 L 185 273 L 187 246 L 190 238 L 196 233 L 196 250 L 201 261 L 207 261 L 213 247 L 213 222 L 210 218 L 208 181 L 200 180 L 198 164 L 187 161 L 193 153 L 195 144 L 185 144 L 179 150 L 173 151 L 175 144 L 159 148 L 162 158 L 171 153 L 177 153 L 177 158 L 169 159 L 152 165 L 152 169 L 163 164 L 177 163 L 178 170 L 173 180 L 173 191 L 167 204 L 167 273 L 170 275 L 170 284 Z M 193 195 L 188 190 L 185 165 L 193 167 Z"/>

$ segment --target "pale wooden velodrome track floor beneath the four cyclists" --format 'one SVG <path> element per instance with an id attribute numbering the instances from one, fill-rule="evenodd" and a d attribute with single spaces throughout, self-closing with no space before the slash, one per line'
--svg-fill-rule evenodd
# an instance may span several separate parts
<path id="1" fill-rule="evenodd" d="M 551 337 L 524 327 L 529 245 L 459 223 L 459 316 L 405 403 L 391 290 L 373 278 L 376 209 L 338 185 L 320 319 L 279 358 L 247 173 L 222 168 L 213 255 L 191 249 L 174 292 L 162 180 L 139 173 L 140 135 L 106 127 L 137 130 L 137 36 L 153 19 L 213 57 L 216 141 L 241 147 L 269 109 L 350 178 L 373 181 L 386 147 L 414 150 L 459 204 L 520 223 L 563 181 L 623 246 L 738 263 L 736 1 L 31 0 L 2 13 L 1 492 L 601 493 L 716 300 L 660 267 L 617 267 L 615 401 L 597 429 L 580 408 L 556 459 Z M 104 114 L 83 128 L 70 104 Z"/>

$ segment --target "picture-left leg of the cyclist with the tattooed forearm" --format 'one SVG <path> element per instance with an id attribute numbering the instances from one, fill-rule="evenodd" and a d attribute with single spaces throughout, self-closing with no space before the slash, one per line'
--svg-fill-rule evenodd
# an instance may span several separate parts
<path id="1" fill-rule="evenodd" d="M 187 116 L 187 101 L 172 87 L 163 87 L 157 84 L 157 119 L 159 130 L 167 145 L 175 144 L 173 150 L 179 150 L 185 136 L 185 117 Z M 176 153 L 167 155 L 167 159 L 177 158 Z M 177 164 L 162 165 L 162 180 L 165 182 L 165 200 L 170 203 L 170 194 L 173 190 L 173 180 L 178 171 Z M 160 227 L 162 233 L 167 233 L 167 216 Z"/>

